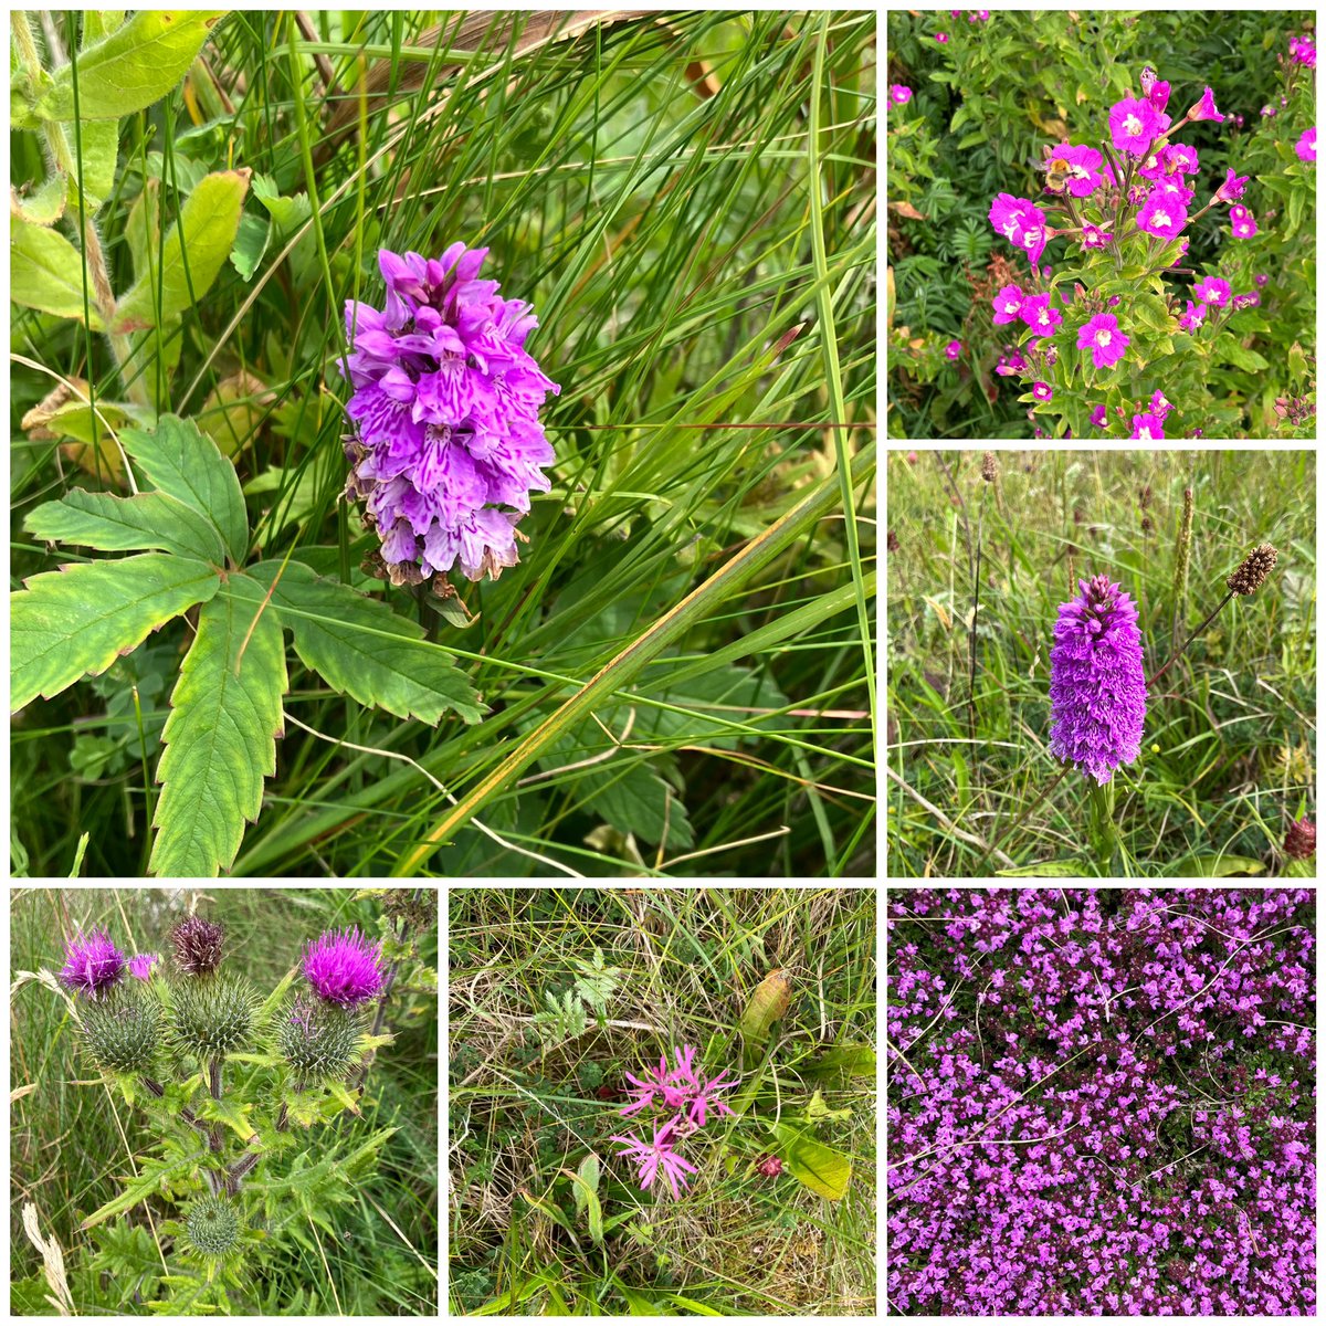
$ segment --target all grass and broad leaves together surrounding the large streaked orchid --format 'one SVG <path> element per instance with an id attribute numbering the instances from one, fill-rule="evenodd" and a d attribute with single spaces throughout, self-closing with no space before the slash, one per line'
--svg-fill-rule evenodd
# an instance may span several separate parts
<path id="1" fill-rule="evenodd" d="M 874 16 L 29 19 L 16 873 L 873 874 Z M 337 362 L 457 239 L 562 394 L 438 602 L 359 570 Z"/>

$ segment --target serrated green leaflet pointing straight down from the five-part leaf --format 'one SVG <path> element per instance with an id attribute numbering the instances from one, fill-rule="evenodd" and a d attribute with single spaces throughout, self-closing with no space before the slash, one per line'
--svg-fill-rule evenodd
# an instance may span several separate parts
<path id="1" fill-rule="evenodd" d="M 211 599 L 171 695 L 156 766 L 162 794 L 149 871 L 211 878 L 228 870 L 245 821 L 263 808 L 263 780 L 276 773 L 286 690 L 285 642 L 263 591 L 236 574 Z"/>

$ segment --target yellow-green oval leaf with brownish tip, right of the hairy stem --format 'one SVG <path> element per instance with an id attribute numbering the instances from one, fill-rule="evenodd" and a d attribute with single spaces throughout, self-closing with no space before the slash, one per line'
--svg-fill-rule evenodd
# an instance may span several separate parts
<path id="1" fill-rule="evenodd" d="M 115 306 L 117 332 L 159 326 L 211 288 L 235 244 L 248 180 L 248 170 L 217 171 L 194 188 L 162 240 L 155 278 L 139 277 Z"/>

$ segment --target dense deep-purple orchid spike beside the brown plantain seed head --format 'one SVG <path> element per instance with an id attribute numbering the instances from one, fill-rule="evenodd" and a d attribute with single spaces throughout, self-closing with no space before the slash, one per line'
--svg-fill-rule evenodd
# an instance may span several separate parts
<path id="1" fill-rule="evenodd" d="M 1142 749 L 1147 687 L 1138 610 L 1109 577 L 1078 581 L 1059 605 L 1050 652 L 1050 752 L 1099 784 Z"/>

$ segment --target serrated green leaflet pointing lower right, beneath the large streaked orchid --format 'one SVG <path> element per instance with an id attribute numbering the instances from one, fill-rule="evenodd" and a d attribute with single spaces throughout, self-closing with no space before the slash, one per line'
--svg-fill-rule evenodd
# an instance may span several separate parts
<path id="1" fill-rule="evenodd" d="M 452 655 L 426 642 L 419 626 L 386 603 L 318 577 L 302 562 L 260 562 L 251 574 L 274 586 L 272 602 L 294 636 L 296 654 L 333 690 L 398 719 L 435 724 L 450 709 L 479 721 L 479 697 Z"/>

